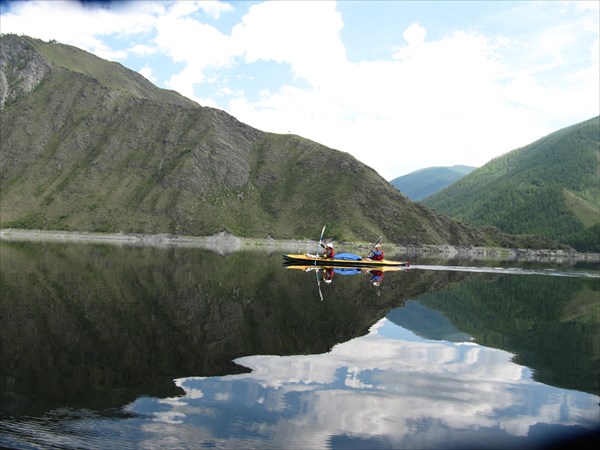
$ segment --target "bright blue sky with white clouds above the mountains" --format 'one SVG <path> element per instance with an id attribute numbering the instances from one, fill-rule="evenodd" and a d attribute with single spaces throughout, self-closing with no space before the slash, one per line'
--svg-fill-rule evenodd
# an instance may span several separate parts
<path id="1" fill-rule="evenodd" d="M 481 166 L 600 114 L 600 2 L 6 1 L 55 39 L 391 180 Z"/>

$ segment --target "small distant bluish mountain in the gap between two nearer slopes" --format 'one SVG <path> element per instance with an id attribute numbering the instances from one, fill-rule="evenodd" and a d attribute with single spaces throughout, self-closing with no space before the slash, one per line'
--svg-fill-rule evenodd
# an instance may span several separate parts
<path id="1" fill-rule="evenodd" d="M 417 201 L 450 186 L 474 169 L 470 166 L 427 167 L 394 178 L 390 183 L 409 199 Z"/>

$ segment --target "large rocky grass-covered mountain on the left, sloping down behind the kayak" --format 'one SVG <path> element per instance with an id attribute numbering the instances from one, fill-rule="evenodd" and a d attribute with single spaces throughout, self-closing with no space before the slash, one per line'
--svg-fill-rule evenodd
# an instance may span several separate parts
<path id="1" fill-rule="evenodd" d="M 553 245 L 449 219 L 347 153 L 55 42 L 0 36 L 0 126 L 3 228 Z"/>

